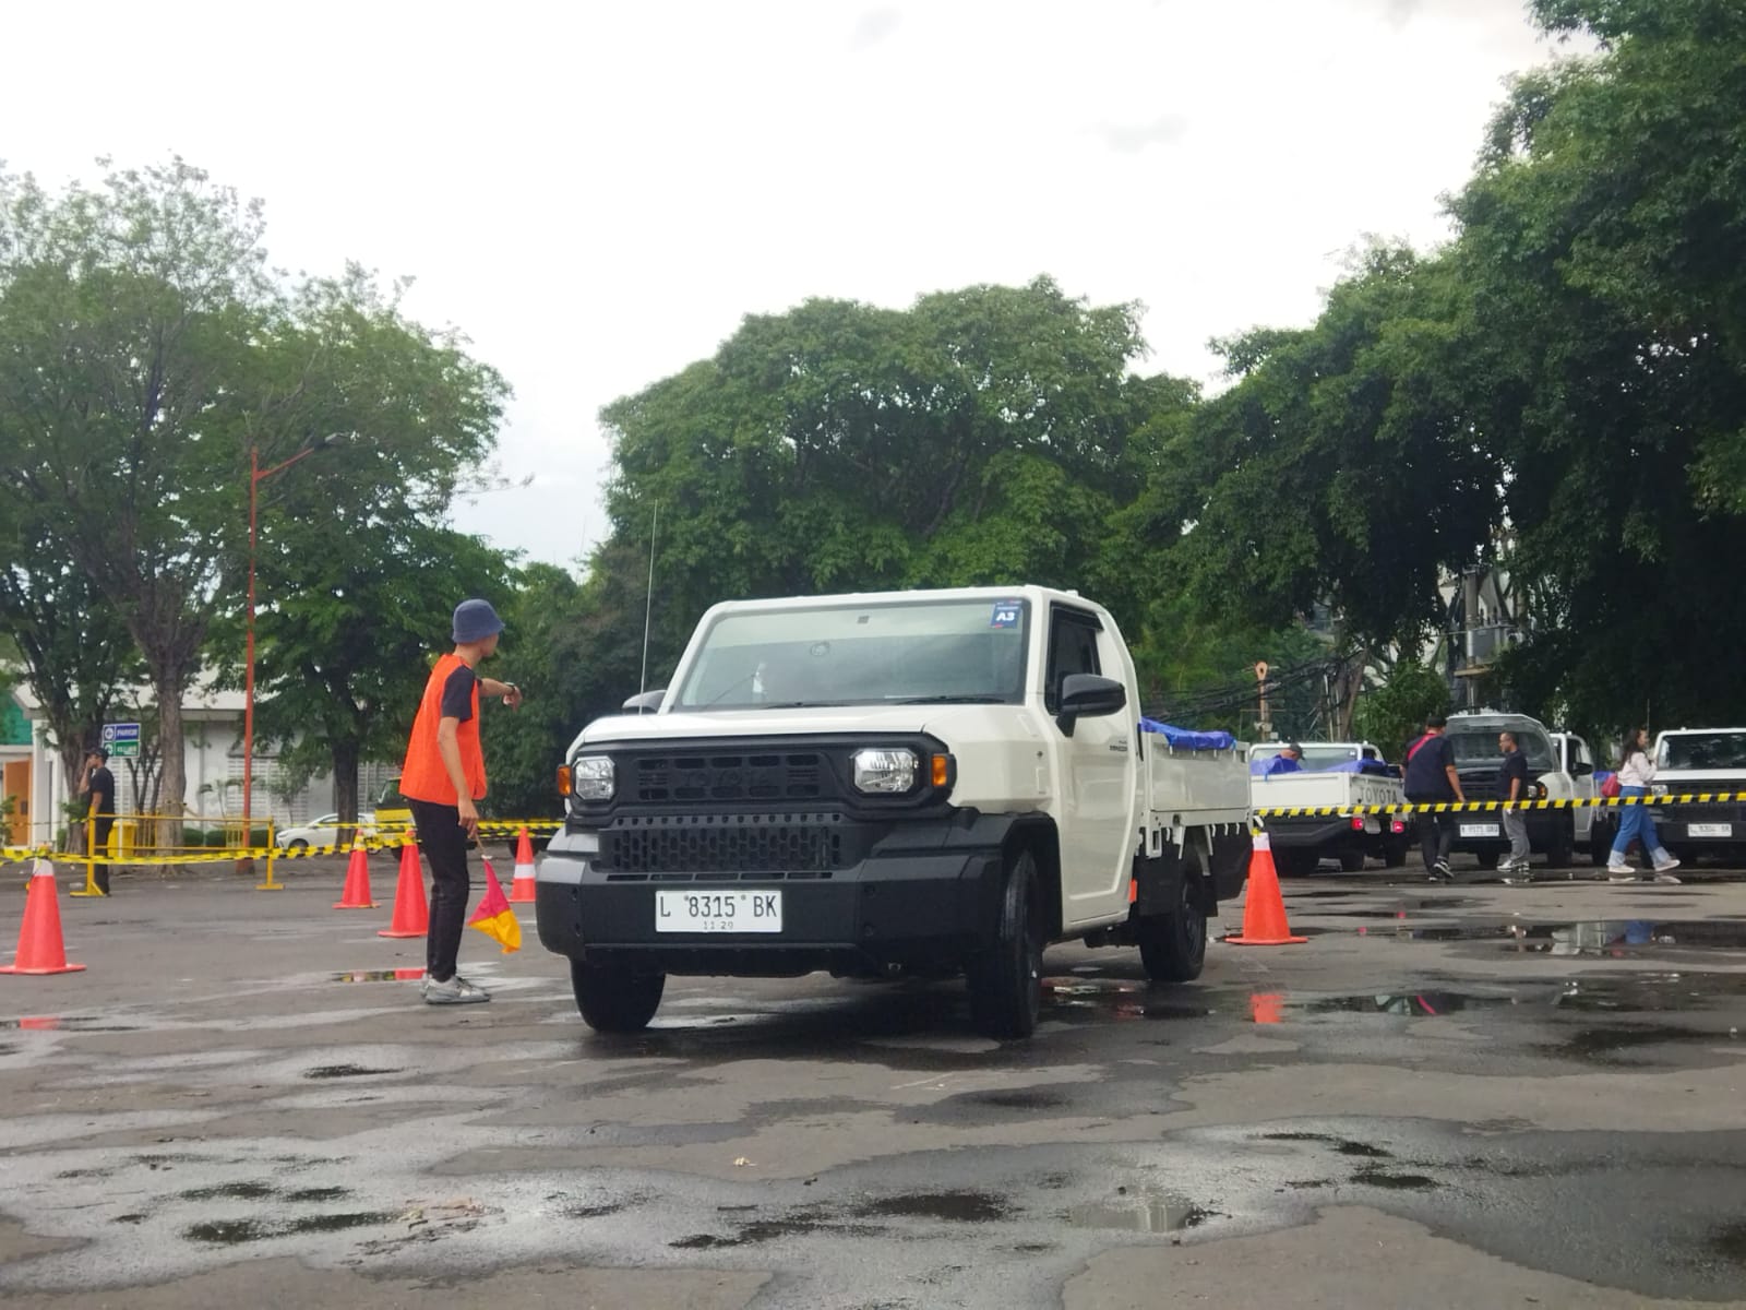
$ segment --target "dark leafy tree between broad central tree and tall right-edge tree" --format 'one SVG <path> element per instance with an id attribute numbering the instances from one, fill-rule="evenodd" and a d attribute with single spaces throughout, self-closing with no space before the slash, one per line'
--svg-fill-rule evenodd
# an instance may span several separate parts
<path id="1" fill-rule="evenodd" d="M 1332 608 L 1337 648 L 1414 648 L 1474 561 L 1496 473 L 1463 407 L 1460 290 L 1371 248 L 1315 327 L 1215 342 L 1236 386 L 1194 416 L 1154 493 L 1168 576 L 1213 613 L 1283 627 Z"/>

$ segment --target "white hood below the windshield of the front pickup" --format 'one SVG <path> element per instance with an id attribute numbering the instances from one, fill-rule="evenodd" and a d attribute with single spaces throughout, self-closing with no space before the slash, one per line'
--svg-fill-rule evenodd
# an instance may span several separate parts
<path id="1" fill-rule="evenodd" d="M 726 709 L 674 714 L 613 714 L 583 728 L 569 751 L 604 741 L 686 741 L 698 737 L 793 737 L 796 734 L 931 732 L 948 746 L 959 734 L 980 735 L 990 718 L 1035 721 L 1030 706 L 831 706 L 826 709 Z"/>

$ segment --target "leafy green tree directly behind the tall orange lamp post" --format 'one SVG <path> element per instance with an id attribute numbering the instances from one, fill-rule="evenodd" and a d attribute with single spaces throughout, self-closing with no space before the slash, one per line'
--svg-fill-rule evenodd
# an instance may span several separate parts
<path id="1" fill-rule="evenodd" d="M 430 652 L 454 606 L 498 596 L 508 561 L 443 527 L 485 465 L 508 388 L 454 332 L 430 332 L 358 267 L 297 288 L 255 353 L 279 426 L 340 433 L 260 484 L 257 685 L 260 739 L 292 781 L 327 769 L 342 824 L 358 817 L 360 763 L 405 749 Z M 306 447 L 307 449 L 307 447 Z M 229 557 L 225 594 L 246 594 Z M 236 624 L 223 653 L 241 653 Z M 234 679 L 234 678 L 232 678 Z"/>

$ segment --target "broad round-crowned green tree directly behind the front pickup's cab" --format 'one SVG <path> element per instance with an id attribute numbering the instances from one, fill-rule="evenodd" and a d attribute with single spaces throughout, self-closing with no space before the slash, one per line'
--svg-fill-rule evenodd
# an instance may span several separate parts
<path id="1" fill-rule="evenodd" d="M 1194 400 L 1133 377 L 1142 353 L 1135 306 L 1046 278 L 747 318 L 602 410 L 615 540 L 646 548 L 660 507 L 660 650 L 737 596 L 1096 578 L 1133 617 L 1138 550 L 1110 524 L 1158 412 Z"/>

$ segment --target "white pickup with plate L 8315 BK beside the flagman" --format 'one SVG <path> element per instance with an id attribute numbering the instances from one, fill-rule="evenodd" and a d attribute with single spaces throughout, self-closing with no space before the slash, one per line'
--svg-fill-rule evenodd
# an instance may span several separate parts
<path id="1" fill-rule="evenodd" d="M 669 690 L 590 723 L 536 917 L 590 1027 L 667 975 L 969 980 L 1028 1036 L 1051 941 L 1200 975 L 1248 868 L 1229 739 L 1144 730 L 1110 615 L 1042 587 L 718 604 Z M 627 702 L 627 709 L 630 702 Z"/>

